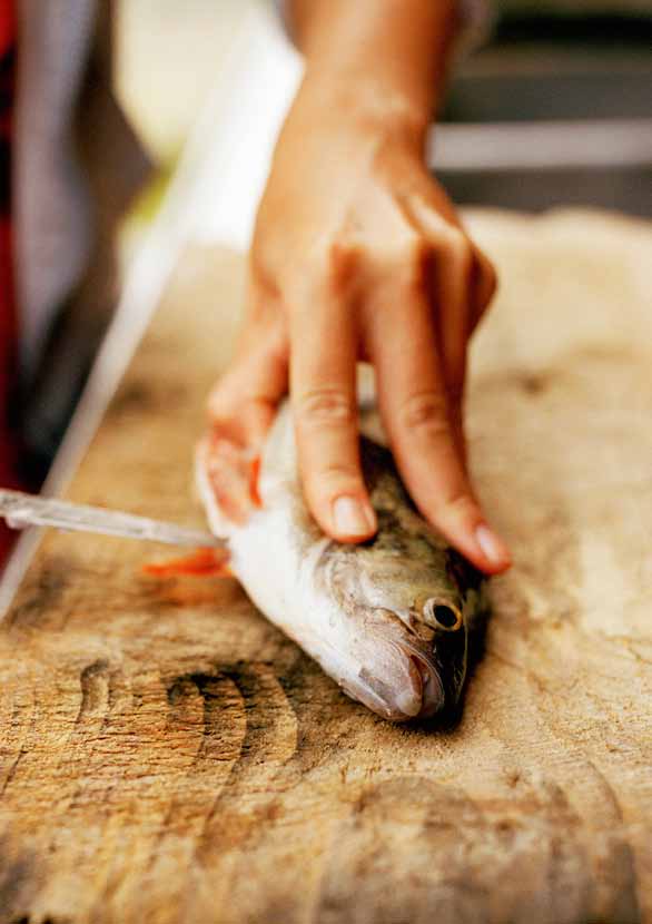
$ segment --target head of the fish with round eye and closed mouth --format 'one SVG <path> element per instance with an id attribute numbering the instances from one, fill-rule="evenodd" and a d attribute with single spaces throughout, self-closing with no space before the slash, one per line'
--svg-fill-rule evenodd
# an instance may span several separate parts
<path id="1" fill-rule="evenodd" d="M 386 718 L 424 719 L 460 699 L 481 576 L 421 518 L 378 519 L 369 542 L 330 547 L 329 591 L 359 665 L 347 687 Z"/>

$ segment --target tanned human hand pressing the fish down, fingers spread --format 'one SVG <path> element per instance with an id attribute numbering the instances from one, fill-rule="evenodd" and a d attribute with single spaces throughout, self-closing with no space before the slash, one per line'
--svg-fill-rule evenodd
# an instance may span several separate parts
<path id="1" fill-rule="evenodd" d="M 210 397 L 216 433 L 260 444 L 289 392 L 308 507 L 324 531 L 376 530 L 359 464 L 356 362 L 376 370 L 391 445 L 416 505 L 487 573 L 510 563 L 468 480 L 468 338 L 495 289 L 396 100 L 352 102 L 307 78 L 279 139 L 236 357 Z"/>

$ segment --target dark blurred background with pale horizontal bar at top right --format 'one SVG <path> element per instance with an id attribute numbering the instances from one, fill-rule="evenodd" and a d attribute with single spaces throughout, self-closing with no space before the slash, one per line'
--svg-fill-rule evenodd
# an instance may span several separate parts
<path id="1" fill-rule="evenodd" d="M 458 203 L 652 215 L 652 4 L 502 6 L 444 119 L 435 163 Z"/>

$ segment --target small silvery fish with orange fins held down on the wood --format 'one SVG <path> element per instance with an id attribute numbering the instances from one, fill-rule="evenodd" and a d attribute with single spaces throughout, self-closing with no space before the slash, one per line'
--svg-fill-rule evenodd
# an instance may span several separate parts
<path id="1" fill-rule="evenodd" d="M 378 520 L 359 544 L 324 534 L 304 500 L 286 401 L 259 456 L 215 436 L 196 453 L 208 524 L 256 607 L 354 700 L 395 723 L 453 709 L 483 576 L 419 514 L 375 404 L 360 400 L 360 460 Z"/>

